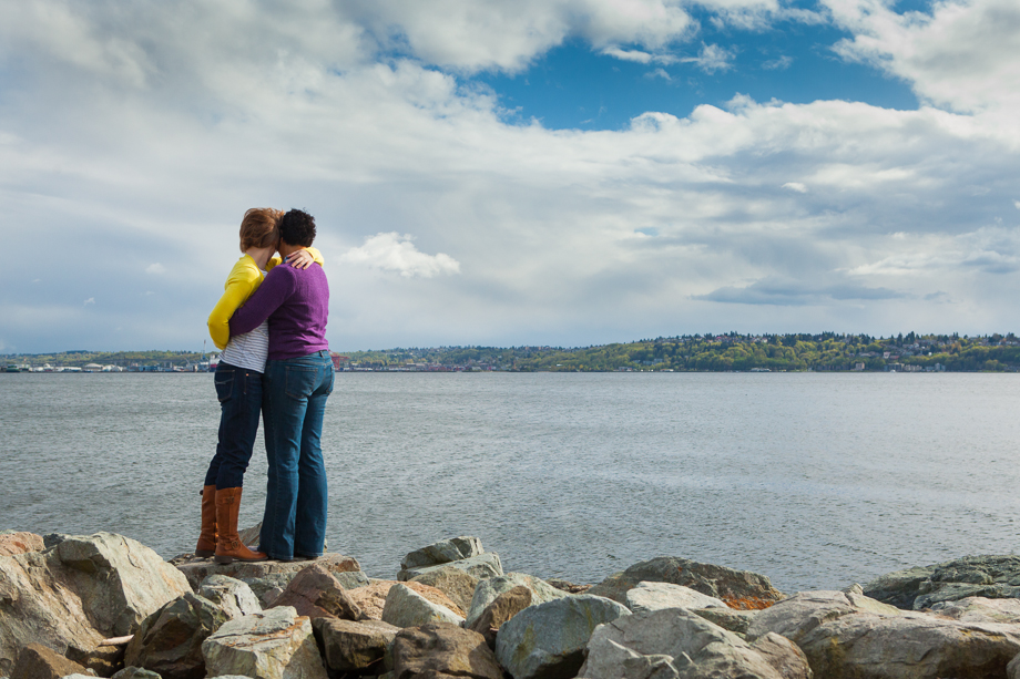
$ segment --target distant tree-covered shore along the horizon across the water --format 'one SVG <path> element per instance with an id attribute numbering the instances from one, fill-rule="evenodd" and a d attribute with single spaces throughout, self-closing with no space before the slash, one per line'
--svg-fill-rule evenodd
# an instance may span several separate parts
<path id="1" fill-rule="evenodd" d="M 156 364 L 198 362 L 190 351 L 67 351 L 8 354 L 0 362 L 54 366 L 88 363 Z M 431 347 L 344 353 L 344 363 L 363 369 L 468 369 L 519 372 L 635 371 L 883 371 L 1020 370 L 1020 339 L 1008 335 L 960 336 L 908 332 L 886 337 L 836 332 L 786 335 L 683 335 L 590 347 Z"/>

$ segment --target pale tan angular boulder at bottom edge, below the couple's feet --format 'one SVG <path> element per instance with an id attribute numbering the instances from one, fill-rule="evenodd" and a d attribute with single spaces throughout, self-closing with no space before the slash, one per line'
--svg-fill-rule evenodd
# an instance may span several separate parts
<path id="1" fill-rule="evenodd" d="M 289 606 L 230 620 L 202 644 L 208 677 L 327 679 L 312 621 Z"/>

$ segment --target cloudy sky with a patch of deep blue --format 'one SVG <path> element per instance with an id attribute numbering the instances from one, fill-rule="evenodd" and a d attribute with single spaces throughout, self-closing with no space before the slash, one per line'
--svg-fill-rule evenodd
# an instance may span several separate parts
<path id="1" fill-rule="evenodd" d="M 1017 331 L 1018 111 L 1017 0 L 0 2 L 0 352 L 201 349 L 265 206 L 338 351 Z"/>

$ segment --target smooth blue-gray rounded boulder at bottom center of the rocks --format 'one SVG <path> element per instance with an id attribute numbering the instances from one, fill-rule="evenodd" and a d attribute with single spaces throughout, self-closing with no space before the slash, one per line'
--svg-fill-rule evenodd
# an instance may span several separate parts
<path id="1" fill-rule="evenodd" d="M 575 677 L 594 629 L 629 615 L 622 604 L 589 594 L 531 606 L 500 627 L 496 657 L 513 679 Z"/>

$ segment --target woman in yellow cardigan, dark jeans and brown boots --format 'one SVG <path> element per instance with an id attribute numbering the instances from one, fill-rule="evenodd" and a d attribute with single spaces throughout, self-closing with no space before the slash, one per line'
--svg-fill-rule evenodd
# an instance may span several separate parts
<path id="1" fill-rule="evenodd" d="M 237 515 L 244 472 L 252 459 L 258 415 L 262 411 L 262 373 L 269 349 L 268 323 L 251 332 L 231 337 L 230 320 L 258 289 L 268 269 L 282 264 L 274 257 L 279 244 L 277 224 L 283 216 L 272 208 L 252 208 L 241 222 L 241 251 L 244 256 L 231 269 L 223 297 L 208 317 L 208 331 L 222 349 L 216 367 L 216 397 L 220 399 L 220 436 L 216 454 L 210 462 L 202 488 L 202 529 L 196 556 L 215 556 L 217 563 L 265 560 L 266 555 L 252 552 L 237 534 Z M 287 265 L 307 268 L 323 264 L 315 248 L 298 250 Z"/>

